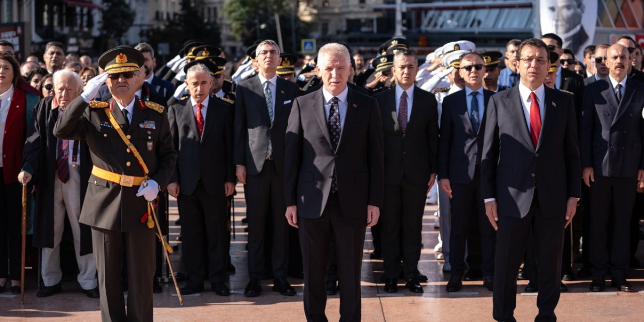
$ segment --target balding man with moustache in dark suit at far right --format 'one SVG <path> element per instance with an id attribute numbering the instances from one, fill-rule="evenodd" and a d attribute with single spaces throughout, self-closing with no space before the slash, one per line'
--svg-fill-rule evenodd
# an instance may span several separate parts
<path id="1" fill-rule="evenodd" d="M 589 87 L 580 130 L 583 181 L 591 200 L 591 290 L 603 291 L 610 270 L 612 287 L 634 292 L 626 270 L 636 184 L 644 182 L 644 84 L 627 77 L 625 46 L 612 45 L 606 58 L 610 75 Z"/>

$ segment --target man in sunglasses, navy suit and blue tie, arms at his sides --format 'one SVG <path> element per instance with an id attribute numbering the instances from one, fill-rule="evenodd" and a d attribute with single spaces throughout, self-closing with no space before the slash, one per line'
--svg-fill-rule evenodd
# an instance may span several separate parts
<path id="1" fill-rule="evenodd" d="M 488 290 L 492 290 L 494 284 L 495 232 L 488 223 L 480 196 L 479 164 L 485 132 L 485 106 L 494 95 L 493 91 L 483 88 L 484 64 L 479 53 L 462 55 L 459 73 L 465 80 L 465 89 L 443 99 L 439 178 L 440 188 L 451 203 L 448 292 L 458 292 L 462 287 L 466 245 L 469 279 L 483 277 L 483 285 Z"/>

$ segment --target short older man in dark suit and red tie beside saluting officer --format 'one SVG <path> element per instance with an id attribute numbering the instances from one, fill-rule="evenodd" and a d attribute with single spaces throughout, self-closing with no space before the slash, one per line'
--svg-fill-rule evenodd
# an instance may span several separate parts
<path id="1" fill-rule="evenodd" d="M 232 104 L 210 96 L 214 80 L 206 66 L 209 62 L 186 65 L 190 99 L 168 109 L 170 131 L 181 158 L 167 191 L 178 198 L 182 214 L 182 258 L 187 272 L 182 294 L 204 290 L 207 267 L 211 289 L 228 296 L 230 291 L 224 283 L 228 266 L 226 196 L 232 195 L 235 181 L 233 110 Z"/>

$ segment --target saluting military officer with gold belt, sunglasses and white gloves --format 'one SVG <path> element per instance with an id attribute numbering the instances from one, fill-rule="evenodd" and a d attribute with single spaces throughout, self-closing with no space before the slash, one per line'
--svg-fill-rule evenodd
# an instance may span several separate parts
<path id="1" fill-rule="evenodd" d="M 94 167 L 81 211 L 92 229 L 99 274 L 102 321 L 152 321 L 155 229 L 146 225 L 147 201 L 166 188 L 175 168 L 164 108 L 137 99 L 137 74 L 144 56 L 134 48 L 114 48 L 99 57 L 105 71 L 58 118 L 53 133 L 85 140 Z M 106 83 L 108 102 L 92 100 Z M 123 251 L 128 260 L 128 312 L 121 284 Z"/>

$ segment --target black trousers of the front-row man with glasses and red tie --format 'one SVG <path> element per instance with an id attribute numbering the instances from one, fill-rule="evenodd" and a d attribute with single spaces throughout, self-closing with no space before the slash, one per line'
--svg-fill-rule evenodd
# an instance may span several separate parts
<path id="1" fill-rule="evenodd" d="M 556 321 L 554 308 L 561 293 L 561 260 L 564 247 L 565 209 L 561 216 L 546 218 L 535 191 L 532 205 L 524 218 L 499 216 L 494 267 L 492 314 L 497 321 L 516 322 L 516 272 L 521 265 L 529 232 L 535 240 L 539 270 L 539 295 L 535 321 Z"/>

